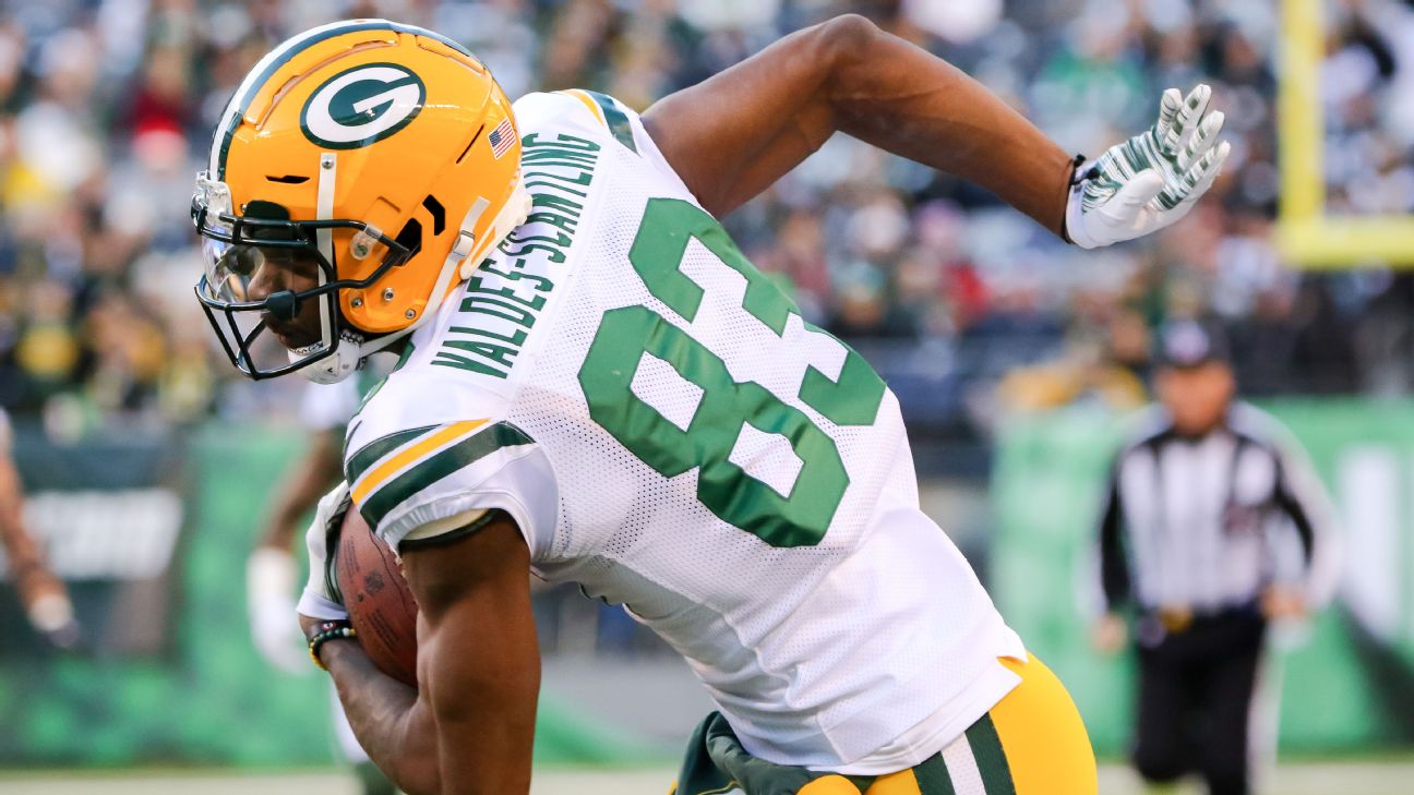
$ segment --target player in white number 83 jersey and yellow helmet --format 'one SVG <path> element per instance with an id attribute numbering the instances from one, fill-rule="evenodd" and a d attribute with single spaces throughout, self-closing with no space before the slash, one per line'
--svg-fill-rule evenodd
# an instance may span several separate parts
<path id="1" fill-rule="evenodd" d="M 413 794 L 527 791 L 530 569 L 701 679 L 720 712 L 682 795 L 1093 794 L 1065 689 L 919 509 L 896 399 L 717 216 L 844 132 L 1103 246 L 1212 184 L 1209 93 L 1165 92 L 1090 164 L 854 16 L 642 116 L 588 91 L 512 105 L 455 42 L 380 20 L 270 52 L 198 178 L 197 293 L 252 378 L 402 355 L 349 426 L 300 603 L 372 758 Z M 344 642 L 325 523 L 349 502 L 421 607 L 416 689 Z"/>

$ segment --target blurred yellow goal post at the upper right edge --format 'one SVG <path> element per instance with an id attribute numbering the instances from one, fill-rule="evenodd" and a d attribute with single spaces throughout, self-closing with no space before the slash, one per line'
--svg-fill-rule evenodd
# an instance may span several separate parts
<path id="1" fill-rule="evenodd" d="M 1281 0 L 1277 246 L 1298 267 L 1336 269 L 1372 262 L 1414 267 L 1414 215 L 1325 212 L 1321 64 L 1326 1 L 1331 0 Z"/>

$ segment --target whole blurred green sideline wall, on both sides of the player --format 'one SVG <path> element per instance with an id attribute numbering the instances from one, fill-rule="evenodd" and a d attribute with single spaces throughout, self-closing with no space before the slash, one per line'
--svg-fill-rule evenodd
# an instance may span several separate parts
<path id="1" fill-rule="evenodd" d="M 1340 603 L 1281 655 L 1282 743 L 1309 753 L 1414 740 L 1414 405 L 1268 406 L 1309 450 L 1345 525 Z M 1063 412 L 998 440 L 997 604 L 1070 686 L 1102 753 L 1124 748 L 1124 659 L 1089 649 L 1082 603 L 1103 475 L 1121 423 Z M 62 447 L 17 439 L 31 506 L 71 581 L 93 652 L 44 652 L 0 577 L 0 767 L 305 765 L 334 758 L 327 682 L 252 648 L 245 560 L 298 451 L 290 429 L 215 424 L 184 436 Z M 540 761 L 653 755 L 542 699 Z"/>

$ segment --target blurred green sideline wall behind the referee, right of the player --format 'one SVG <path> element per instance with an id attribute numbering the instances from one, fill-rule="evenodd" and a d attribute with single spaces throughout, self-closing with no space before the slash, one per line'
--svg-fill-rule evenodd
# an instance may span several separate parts
<path id="1" fill-rule="evenodd" d="M 1414 403 L 1264 405 L 1305 446 L 1336 504 L 1340 596 L 1273 655 L 1281 747 L 1353 753 L 1414 741 Z M 1073 409 L 998 439 L 991 588 L 1007 621 L 1070 687 L 1100 753 L 1127 748 L 1131 661 L 1089 644 L 1104 477 L 1126 423 Z"/>

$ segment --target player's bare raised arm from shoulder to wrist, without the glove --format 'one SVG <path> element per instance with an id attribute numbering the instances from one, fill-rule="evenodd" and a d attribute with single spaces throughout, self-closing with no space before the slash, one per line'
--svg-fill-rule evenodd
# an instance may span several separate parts
<path id="1" fill-rule="evenodd" d="M 1062 232 L 1070 156 L 981 83 L 864 17 L 788 35 L 663 98 L 643 124 L 714 215 L 843 132 L 976 182 Z"/>

